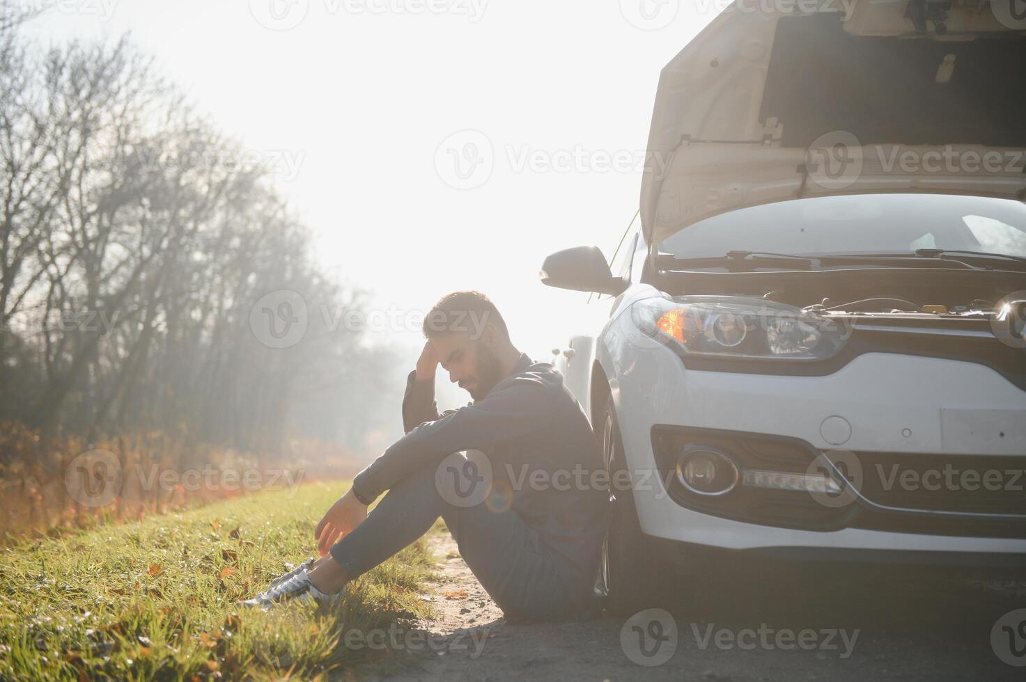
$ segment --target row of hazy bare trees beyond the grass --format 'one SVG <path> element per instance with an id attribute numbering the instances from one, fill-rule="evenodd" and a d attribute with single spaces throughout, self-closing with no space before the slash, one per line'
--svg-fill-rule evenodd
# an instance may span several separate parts
<path id="1" fill-rule="evenodd" d="M 268 453 L 398 430 L 378 405 L 401 377 L 374 380 L 394 356 L 317 314 L 367 292 L 321 272 L 268 173 L 126 40 L 40 53 L 11 11 L 0 0 L 0 420 Z M 311 311 L 289 349 L 249 326 L 277 289 Z"/>

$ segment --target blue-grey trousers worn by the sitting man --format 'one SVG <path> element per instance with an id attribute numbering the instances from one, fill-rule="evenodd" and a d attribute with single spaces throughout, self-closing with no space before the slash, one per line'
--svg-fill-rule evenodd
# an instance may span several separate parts
<path id="1" fill-rule="evenodd" d="M 353 579 L 421 537 L 440 516 L 461 556 L 510 620 L 566 619 L 569 586 L 537 531 L 508 507 L 451 505 L 436 487 L 434 468 L 424 467 L 393 486 L 360 525 L 331 547 L 331 556 Z"/>

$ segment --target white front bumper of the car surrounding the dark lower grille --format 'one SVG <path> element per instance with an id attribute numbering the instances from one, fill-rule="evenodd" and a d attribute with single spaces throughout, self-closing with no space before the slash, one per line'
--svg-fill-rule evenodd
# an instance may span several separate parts
<path id="1" fill-rule="evenodd" d="M 867 354 L 833 374 L 780 376 L 688 370 L 673 353 L 652 349 L 629 369 L 618 373 L 614 396 L 632 472 L 660 470 L 653 439 L 660 425 L 777 435 L 814 452 L 873 453 L 873 464 L 885 464 L 889 454 L 928 468 L 943 468 L 952 458 L 982 464 L 983 457 L 1000 457 L 1002 466 L 1026 469 L 1026 393 L 981 365 Z M 688 508 L 674 499 L 666 477 L 652 479 L 652 485 L 635 485 L 633 494 L 643 532 L 656 537 L 729 550 L 901 551 L 938 559 L 940 553 L 1026 554 L 1022 531 L 947 514 L 958 510 L 943 505 L 929 510 L 945 515 L 941 522 L 911 522 L 899 518 L 903 512 L 889 512 L 875 522 L 863 514 L 860 523 L 854 505 L 830 523 L 802 527 L 780 518 L 731 518 L 701 505 Z M 1026 486 L 1026 476 L 1017 484 Z M 1023 512 L 1026 527 L 1026 491 L 1018 507 L 1014 495 L 1001 494 L 1005 499 L 996 511 L 1004 514 L 1011 504 L 1013 512 Z M 901 495 L 884 507 L 907 507 L 894 505 L 896 499 Z M 983 505 L 977 512 L 987 511 L 986 499 L 977 503 Z M 921 514 L 922 507 L 911 516 L 937 517 Z"/>

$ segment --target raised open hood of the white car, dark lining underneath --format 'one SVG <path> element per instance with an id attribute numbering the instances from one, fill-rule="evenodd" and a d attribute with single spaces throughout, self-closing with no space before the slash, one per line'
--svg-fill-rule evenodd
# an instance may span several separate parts
<path id="1" fill-rule="evenodd" d="M 802 196 L 1024 198 L 1026 19 L 998 6 L 1015 0 L 815 0 L 807 13 L 741 1 L 663 70 L 641 185 L 649 244 Z"/>

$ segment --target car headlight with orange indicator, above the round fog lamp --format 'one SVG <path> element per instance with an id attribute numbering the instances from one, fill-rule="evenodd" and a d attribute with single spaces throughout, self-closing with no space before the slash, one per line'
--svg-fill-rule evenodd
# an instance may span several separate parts
<path id="1" fill-rule="evenodd" d="M 836 321 L 746 296 L 666 296 L 631 307 L 635 326 L 688 355 L 826 360 L 847 334 Z"/>

